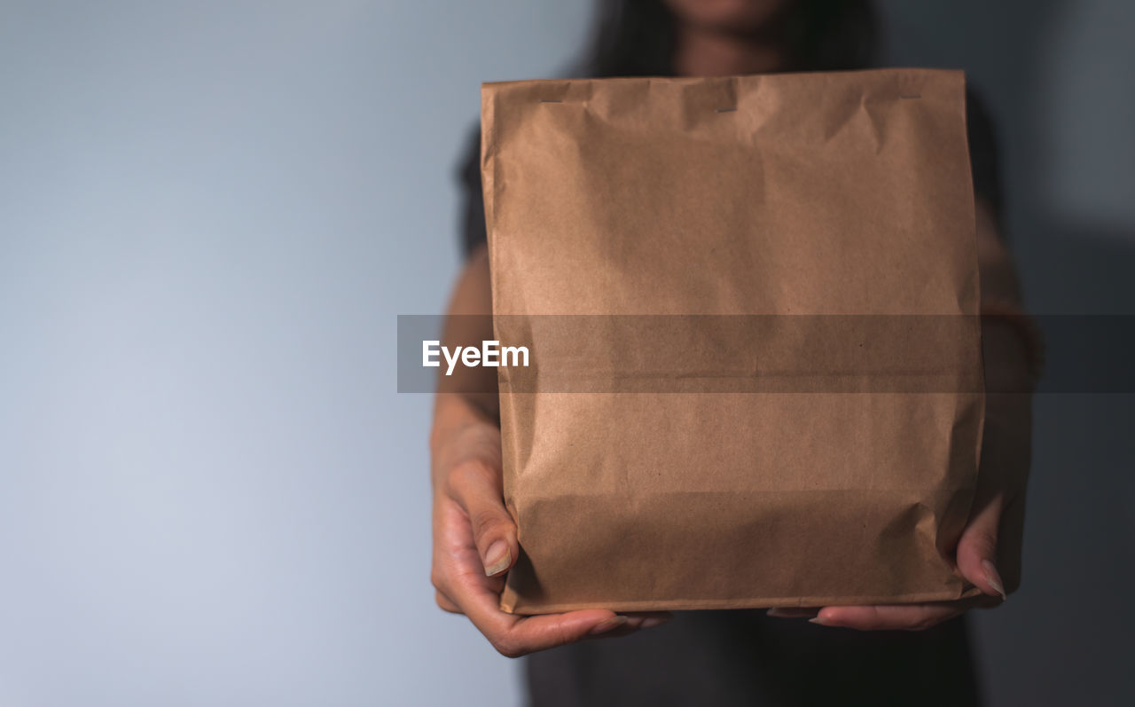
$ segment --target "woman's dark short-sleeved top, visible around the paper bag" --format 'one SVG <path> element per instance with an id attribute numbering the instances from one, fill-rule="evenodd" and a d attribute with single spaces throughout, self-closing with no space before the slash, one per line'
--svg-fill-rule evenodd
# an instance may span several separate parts
<path id="1" fill-rule="evenodd" d="M 1000 219 L 993 126 L 967 96 L 974 191 Z M 479 140 L 461 169 L 462 246 L 485 243 Z M 527 658 L 532 707 L 976 705 L 965 620 L 923 632 L 827 629 L 763 611 L 681 612 L 638 634 Z"/>

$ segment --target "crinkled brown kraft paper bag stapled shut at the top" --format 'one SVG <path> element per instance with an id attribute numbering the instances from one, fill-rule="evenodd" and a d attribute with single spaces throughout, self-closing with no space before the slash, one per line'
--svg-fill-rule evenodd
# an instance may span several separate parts
<path id="1" fill-rule="evenodd" d="M 495 336 L 532 355 L 504 611 L 977 594 L 961 73 L 493 83 L 481 121 Z"/>

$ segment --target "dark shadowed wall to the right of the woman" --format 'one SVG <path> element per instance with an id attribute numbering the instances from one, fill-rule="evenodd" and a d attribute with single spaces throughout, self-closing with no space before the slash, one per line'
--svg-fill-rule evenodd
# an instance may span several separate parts
<path id="1" fill-rule="evenodd" d="M 1091 129 L 1115 124 L 1109 113 L 1132 115 L 1135 92 L 1098 90 L 1070 103 L 1083 95 L 1081 78 L 1129 82 L 1135 50 L 1099 20 L 1130 24 L 1133 9 L 1121 0 L 882 0 L 880 8 L 893 64 L 966 69 L 997 120 L 1007 229 L 1029 309 L 1135 315 L 1135 217 L 1117 201 L 1135 197 L 1123 193 L 1135 155 L 1121 153 L 1129 134 Z M 1102 35 L 1067 41 L 1061 33 L 1085 32 L 1073 19 L 1087 10 Z M 1071 188 L 1058 169 L 1096 183 Z M 1075 208 L 1090 201 L 1116 208 L 1101 218 Z M 1051 342 L 1071 355 L 1050 361 L 1048 374 L 1135 360 L 1115 355 L 1135 351 L 1125 328 L 1101 342 Z M 1126 676 L 1135 629 L 1127 561 L 1135 556 L 1135 395 L 1039 395 L 1034 410 L 1023 587 L 974 621 L 990 704 L 1135 704 Z"/>

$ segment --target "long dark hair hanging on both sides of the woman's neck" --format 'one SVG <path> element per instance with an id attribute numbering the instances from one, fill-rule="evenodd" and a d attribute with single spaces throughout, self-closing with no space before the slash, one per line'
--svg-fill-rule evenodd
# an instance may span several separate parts
<path id="1" fill-rule="evenodd" d="M 582 73 L 594 77 L 674 74 L 676 19 L 663 0 L 599 0 Z M 871 67 L 878 28 L 869 0 L 793 0 L 777 18 L 791 71 Z"/>

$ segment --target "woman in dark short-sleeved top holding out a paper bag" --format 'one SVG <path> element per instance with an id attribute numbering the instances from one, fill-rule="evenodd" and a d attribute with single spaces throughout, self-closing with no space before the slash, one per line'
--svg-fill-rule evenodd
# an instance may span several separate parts
<path id="1" fill-rule="evenodd" d="M 602 3 L 599 32 L 581 73 L 714 76 L 854 69 L 871 66 L 874 47 L 875 23 L 865 0 L 623 0 Z M 998 234 L 1001 195 L 992 132 L 973 99 L 969 106 L 983 305 L 1017 311 L 1017 281 Z M 474 143 L 463 171 L 468 262 L 452 314 L 490 311 L 477 153 Z M 476 321 L 484 320 L 452 319 L 446 336 L 491 338 L 491 331 L 456 330 L 476 327 Z M 1009 326 L 986 331 L 985 340 L 987 378 L 1002 377 L 1002 385 L 1015 386 L 1012 379 L 1027 371 L 1026 339 Z M 469 376 L 486 376 L 480 380 L 444 381 L 448 387 L 437 398 L 432 581 L 438 605 L 465 614 L 503 654 L 532 654 L 527 674 L 533 705 L 978 701 L 965 624 L 948 621 L 961 613 L 955 604 L 686 612 L 673 621 L 662 613 L 600 609 L 527 618 L 502 613 L 503 575 L 519 546 L 502 498 L 496 396 L 452 393 L 455 386 L 490 389 L 495 378 L 489 371 L 469 369 Z M 1018 382 L 1011 389 L 1024 388 Z M 999 529 L 1019 532 L 1023 494 L 1008 489 L 1024 488 L 1027 396 L 991 395 L 987 418 L 984 486 L 956 553 L 959 571 L 999 600 L 1015 589 L 1018 574 L 1016 554 L 1006 553 L 999 562 L 997 550 Z M 1000 545 L 1017 540 L 1002 536 Z M 614 637 L 621 638 L 589 640 Z"/>

